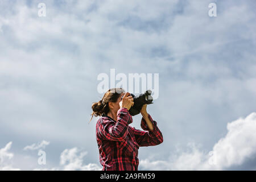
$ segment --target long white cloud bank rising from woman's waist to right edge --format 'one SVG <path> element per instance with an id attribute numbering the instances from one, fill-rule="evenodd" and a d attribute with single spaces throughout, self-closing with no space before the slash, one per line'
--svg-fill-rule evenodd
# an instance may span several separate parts
<path id="1" fill-rule="evenodd" d="M 195 144 L 191 151 L 171 155 L 164 160 L 141 160 L 141 168 L 149 170 L 229 170 L 240 168 L 256 156 L 256 113 L 239 118 L 227 125 L 228 133 L 218 140 L 213 150 L 204 152 Z M 251 167 L 251 166 L 250 166 Z M 253 168 L 243 169 L 256 169 Z"/>

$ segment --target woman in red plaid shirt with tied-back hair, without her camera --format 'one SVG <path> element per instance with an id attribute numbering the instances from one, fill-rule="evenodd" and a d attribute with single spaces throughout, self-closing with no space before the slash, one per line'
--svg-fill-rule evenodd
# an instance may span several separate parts
<path id="1" fill-rule="evenodd" d="M 109 89 L 102 100 L 92 105 L 92 117 L 102 116 L 96 124 L 102 171 L 137 171 L 139 147 L 156 146 L 163 142 L 156 121 L 147 113 L 147 105 L 141 109 L 141 127 L 146 131 L 129 126 L 133 118 L 128 110 L 134 104 L 133 97 L 129 95 L 121 88 Z"/>

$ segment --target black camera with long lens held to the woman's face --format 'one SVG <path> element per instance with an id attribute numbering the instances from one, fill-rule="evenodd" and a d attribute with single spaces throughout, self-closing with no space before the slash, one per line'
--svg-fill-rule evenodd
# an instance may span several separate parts
<path id="1" fill-rule="evenodd" d="M 131 108 L 129 109 L 129 113 L 133 116 L 137 115 L 141 112 L 142 106 L 144 104 L 153 104 L 153 97 L 151 96 L 151 93 L 151 90 L 147 90 L 146 92 L 139 94 L 138 96 L 134 96 L 134 94 L 131 93 L 130 96 L 133 97 L 134 105 L 131 106 Z"/>

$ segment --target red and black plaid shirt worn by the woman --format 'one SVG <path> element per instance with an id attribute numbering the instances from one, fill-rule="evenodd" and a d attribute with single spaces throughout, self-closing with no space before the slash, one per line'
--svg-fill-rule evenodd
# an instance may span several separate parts
<path id="1" fill-rule="evenodd" d="M 153 121 L 150 114 L 148 118 L 154 126 L 153 131 L 148 129 L 143 117 L 141 127 L 146 131 L 129 126 L 133 118 L 126 108 L 117 111 L 117 121 L 105 114 L 98 119 L 96 139 L 102 171 L 137 171 L 139 147 L 156 146 L 163 142 L 163 135 L 156 126 L 156 121 Z"/>

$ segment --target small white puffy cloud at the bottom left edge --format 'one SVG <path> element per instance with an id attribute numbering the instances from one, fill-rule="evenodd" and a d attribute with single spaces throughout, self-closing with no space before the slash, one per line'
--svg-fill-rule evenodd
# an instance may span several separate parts
<path id="1" fill-rule="evenodd" d="M 13 168 L 10 163 L 11 159 L 14 157 L 14 154 L 9 152 L 12 143 L 13 142 L 9 142 L 4 148 L 0 148 L 0 171 L 20 170 L 19 168 Z"/>

